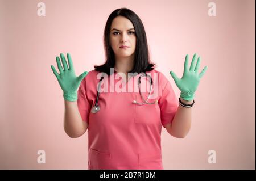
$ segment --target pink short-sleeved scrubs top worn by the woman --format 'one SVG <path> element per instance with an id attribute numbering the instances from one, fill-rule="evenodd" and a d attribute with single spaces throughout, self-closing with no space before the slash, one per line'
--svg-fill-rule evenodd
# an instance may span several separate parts
<path id="1" fill-rule="evenodd" d="M 139 74 L 127 83 L 123 82 L 125 86 L 122 88 L 126 92 L 101 92 L 98 99 L 100 111 L 91 113 L 97 98 L 98 73 L 89 71 L 78 90 L 79 112 L 82 120 L 88 123 L 88 169 L 163 169 L 162 126 L 172 122 L 179 106 L 168 79 L 155 69 L 147 72 L 155 87 L 152 90 L 157 92 L 148 102 L 158 100 L 156 104 L 139 106 L 133 103 L 133 100 L 142 103 L 139 92 L 135 92 Z M 114 79 L 116 74 L 105 76 L 101 88 L 108 85 L 110 91 L 120 85 L 118 82 L 121 81 Z M 110 82 L 113 79 L 114 84 Z M 142 77 L 142 86 L 146 82 Z M 149 87 L 149 82 L 147 84 Z M 131 87 L 133 92 L 128 91 Z M 142 95 L 146 99 L 146 92 Z"/>

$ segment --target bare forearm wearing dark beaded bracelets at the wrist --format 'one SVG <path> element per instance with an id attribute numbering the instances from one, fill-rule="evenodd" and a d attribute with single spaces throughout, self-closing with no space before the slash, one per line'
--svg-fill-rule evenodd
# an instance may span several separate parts
<path id="1" fill-rule="evenodd" d="M 187 101 L 181 99 L 181 102 L 184 104 L 192 104 L 193 100 Z M 172 121 L 171 132 L 177 137 L 184 138 L 191 128 L 191 119 L 192 107 L 187 108 L 179 104 L 174 120 Z"/>

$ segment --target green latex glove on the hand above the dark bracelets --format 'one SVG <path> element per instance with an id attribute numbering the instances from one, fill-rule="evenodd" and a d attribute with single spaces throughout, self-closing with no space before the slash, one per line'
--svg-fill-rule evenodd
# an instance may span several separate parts
<path id="1" fill-rule="evenodd" d="M 197 89 L 197 86 L 199 85 L 200 79 L 201 77 L 203 77 L 205 71 L 207 70 L 207 66 L 205 66 L 204 69 L 199 74 L 198 73 L 199 67 L 200 67 L 200 57 L 198 57 L 196 62 L 196 54 L 194 54 L 190 69 L 188 69 L 188 54 L 187 54 L 185 58 L 184 72 L 183 72 L 182 78 L 177 78 L 177 75 L 173 71 L 170 71 L 172 78 L 174 78 L 174 81 L 177 87 L 181 91 L 180 98 L 184 100 L 194 99 L 195 91 Z"/>

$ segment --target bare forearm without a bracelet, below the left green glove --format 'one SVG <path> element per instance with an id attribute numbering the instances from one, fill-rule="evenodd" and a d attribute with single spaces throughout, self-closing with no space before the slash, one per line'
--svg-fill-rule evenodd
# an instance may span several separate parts
<path id="1" fill-rule="evenodd" d="M 82 118 L 77 107 L 77 102 L 65 100 L 64 130 L 69 137 L 79 137 L 84 133 Z"/>

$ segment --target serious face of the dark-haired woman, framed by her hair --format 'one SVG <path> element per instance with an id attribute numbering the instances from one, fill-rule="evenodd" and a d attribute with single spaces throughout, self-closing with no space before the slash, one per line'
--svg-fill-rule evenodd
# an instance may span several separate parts
<path id="1" fill-rule="evenodd" d="M 127 48 L 120 48 L 122 45 Z M 133 23 L 123 16 L 113 19 L 110 28 L 110 46 L 118 58 L 134 55 L 136 48 L 136 35 Z"/>

